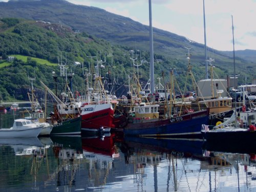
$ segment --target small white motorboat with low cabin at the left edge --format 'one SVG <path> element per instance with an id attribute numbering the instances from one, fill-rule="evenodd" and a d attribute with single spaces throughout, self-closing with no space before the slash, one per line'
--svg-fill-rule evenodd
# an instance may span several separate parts
<path id="1" fill-rule="evenodd" d="M 42 125 L 31 120 L 15 119 L 10 128 L 0 129 L 0 138 L 37 137 L 42 130 Z"/>

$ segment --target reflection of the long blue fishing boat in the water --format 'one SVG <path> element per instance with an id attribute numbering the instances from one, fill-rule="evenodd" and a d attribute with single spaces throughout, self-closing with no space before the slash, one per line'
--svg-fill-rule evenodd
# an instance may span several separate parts
<path id="1" fill-rule="evenodd" d="M 134 183 L 140 188 L 139 191 L 144 190 L 146 181 L 152 177 L 152 171 L 154 177 L 152 187 L 155 188 L 155 191 L 159 190 L 159 186 L 161 186 L 161 191 L 188 190 L 182 182 L 184 180 L 182 177 L 186 178 L 186 185 L 191 182 L 191 186 L 188 186 L 190 191 L 196 191 L 196 186 L 193 186 L 195 182 L 189 181 L 190 179 L 193 180 L 195 176 L 189 178 L 188 175 L 190 172 L 194 172 L 195 167 L 195 173 L 199 174 L 200 165 L 198 163 L 208 160 L 208 157 L 205 158 L 203 155 L 202 146 L 203 140 L 200 139 L 159 139 L 125 136 L 123 143 L 125 151 L 123 153 L 127 164 L 136 165 L 134 166 Z M 166 175 L 162 175 L 163 170 Z M 164 188 L 163 182 L 165 182 Z"/>

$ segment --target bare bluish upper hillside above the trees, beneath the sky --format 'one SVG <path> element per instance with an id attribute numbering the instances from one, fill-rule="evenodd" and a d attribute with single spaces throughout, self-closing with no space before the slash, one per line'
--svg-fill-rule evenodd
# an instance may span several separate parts
<path id="1" fill-rule="evenodd" d="M 0 2 L 0 17 L 44 20 L 52 24 L 66 26 L 73 31 L 86 32 L 95 37 L 103 38 L 111 45 L 143 50 L 143 52 L 148 52 L 150 47 L 148 26 L 103 9 L 75 5 L 64 0 Z M 191 50 L 193 62 L 196 63 L 197 68 L 199 66 L 200 69 L 203 68 L 205 63 L 204 45 L 191 41 L 193 39 L 189 40 L 184 36 L 157 28 L 154 28 L 153 32 L 156 56 L 162 55 L 167 59 L 179 59 L 186 62 L 184 54 L 187 50 L 185 47 L 191 47 L 193 48 Z M 233 73 L 232 54 L 212 49 L 209 49 L 208 52 L 208 55 L 214 55 L 215 65 L 226 75 Z M 236 63 L 239 74 L 245 76 L 245 66 L 249 68 L 247 72 L 255 71 L 255 52 L 255 50 L 238 52 Z M 248 79 L 252 79 L 252 72 L 247 75 Z"/>

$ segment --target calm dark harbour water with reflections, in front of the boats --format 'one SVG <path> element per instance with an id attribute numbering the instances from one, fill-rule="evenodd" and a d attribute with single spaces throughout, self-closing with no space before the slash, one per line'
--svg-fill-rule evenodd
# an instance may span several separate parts
<path id="1" fill-rule="evenodd" d="M 1 127 L 17 117 L 2 112 Z M 254 148 L 119 134 L 0 139 L 0 191 L 256 191 Z"/>

